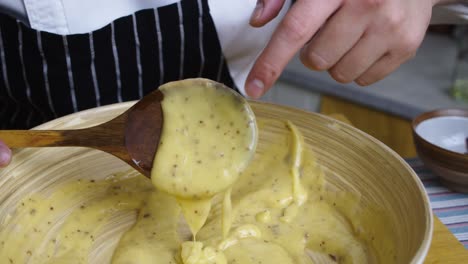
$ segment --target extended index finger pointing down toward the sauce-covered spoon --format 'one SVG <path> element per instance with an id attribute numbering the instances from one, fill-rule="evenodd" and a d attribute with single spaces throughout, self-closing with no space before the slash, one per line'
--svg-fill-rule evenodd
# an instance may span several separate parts
<path id="1" fill-rule="evenodd" d="M 259 98 L 273 85 L 294 54 L 339 3 L 340 0 L 302 0 L 291 7 L 247 77 L 245 89 L 249 96 Z"/>

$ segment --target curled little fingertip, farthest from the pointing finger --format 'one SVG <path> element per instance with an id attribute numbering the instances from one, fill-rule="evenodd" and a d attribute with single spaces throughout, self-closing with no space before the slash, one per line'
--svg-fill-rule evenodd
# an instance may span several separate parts
<path id="1" fill-rule="evenodd" d="M 395 71 L 401 64 L 410 59 L 412 55 L 396 55 L 395 53 L 385 54 L 380 60 L 372 65 L 367 71 L 361 74 L 356 83 L 361 86 L 367 86 L 378 82 L 387 75 Z"/>

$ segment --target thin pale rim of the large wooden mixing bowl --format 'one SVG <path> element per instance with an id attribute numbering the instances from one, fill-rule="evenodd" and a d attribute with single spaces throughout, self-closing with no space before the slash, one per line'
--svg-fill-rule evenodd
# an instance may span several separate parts
<path id="1" fill-rule="evenodd" d="M 427 257 L 427 254 L 429 252 L 429 248 L 430 248 L 430 246 L 432 244 L 432 237 L 433 237 L 433 233 L 434 233 L 434 216 L 433 216 L 432 208 L 430 206 L 429 195 L 428 195 L 426 189 L 424 188 L 424 185 L 423 185 L 421 179 L 417 176 L 416 172 L 411 168 L 411 166 L 400 155 L 398 155 L 394 150 L 392 150 L 390 147 L 388 147 L 387 145 L 385 145 L 384 143 L 382 143 L 378 139 L 374 138 L 373 136 L 359 130 L 358 128 L 356 128 L 356 127 L 354 127 L 354 126 L 352 126 L 350 124 L 347 124 L 347 123 L 342 122 L 340 120 L 334 119 L 334 118 L 329 117 L 327 115 L 324 115 L 324 114 L 321 114 L 321 113 L 316 113 L 316 112 L 311 112 L 311 111 L 307 111 L 307 110 L 303 110 L 303 109 L 299 109 L 299 108 L 295 108 L 295 107 L 291 107 L 291 106 L 270 103 L 270 102 L 262 102 L 262 101 L 251 100 L 251 99 L 248 99 L 248 101 L 249 101 L 249 104 L 251 104 L 251 106 L 253 106 L 252 108 L 255 108 L 255 105 L 262 105 L 262 104 L 263 105 L 270 105 L 270 106 L 277 107 L 277 108 L 283 108 L 284 110 L 287 110 L 287 111 L 303 112 L 303 113 L 307 113 L 307 114 L 310 114 L 310 115 L 320 116 L 321 118 L 324 118 L 324 119 L 326 119 L 326 120 L 328 120 L 330 122 L 338 123 L 341 126 L 344 126 L 344 127 L 348 128 L 348 129 L 352 130 L 354 133 L 358 133 L 361 136 L 364 136 L 368 140 L 370 140 L 373 143 L 375 143 L 376 145 L 378 145 L 380 148 L 385 149 L 385 151 L 388 152 L 388 154 L 390 156 L 397 159 L 400 162 L 400 164 L 408 171 L 408 173 L 411 175 L 411 178 L 414 180 L 415 184 L 417 185 L 417 188 L 420 191 L 419 193 L 421 193 L 421 195 L 422 195 L 421 198 L 424 201 L 424 208 L 425 208 L 425 211 L 427 213 L 426 215 L 428 216 L 426 218 L 426 221 L 425 221 L 425 224 L 426 224 L 427 228 L 426 228 L 426 230 L 424 232 L 424 236 L 422 238 L 421 245 L 418 248 L 418 250 L 414 253 L 410 263 L 412 263 L 412 264 L 422 264 L 425 261 L 425 259 Z M 108 104 L 108 105 L 104 105 L 104 106 L 99 106 L 99 107 L 95 107 L 95 108 L 82 110 L 82 111 L 71 113 L 71 114 L 68 114 L 68 115 L 65 115 L 65 116 L 62 116 L 62 117 L 59 117 L 59 118 L 55 118 L 55 119 L 50 120 L 50 121 L 48 121 L 46 123 L 38 125 L 38 126 L 32 128 L 32 129 L 39 129 L 39 130 L 40 129 L 47 129 L 47 127 L 50 126 L 51 124 L 55 124 L 57 122 L 63 122 L 63 121 L 66 121 L 66 120 L 70 120 L 71 117 L 73 118 L 73 117 L 79 117 L 80 115 L 87 115 L 89 113 L 96 113 L 97 109 L 99 111 L 102 111 L 102 112 L 107 112 L 107 111 L 110 111 L 110 110 L 121 110 L 122 112 L 124 112 L 125 110 L 130 108 L 135 103 L 137 103 L 137 101 L 126 101 L 126 102 L 113 103 L 113 104 Z M 255 109 L 254 109 L 254 112 L 255 112 Z"/>

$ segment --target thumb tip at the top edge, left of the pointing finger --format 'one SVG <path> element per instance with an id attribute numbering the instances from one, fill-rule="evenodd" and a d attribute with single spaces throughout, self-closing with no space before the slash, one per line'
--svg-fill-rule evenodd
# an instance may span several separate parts
<path id="1" fill-rule="evenodd" d="M 257 0 L 257 5 L 250 17 L 250 25 L 262 27 L 274 19 L 286 0 Z"/>

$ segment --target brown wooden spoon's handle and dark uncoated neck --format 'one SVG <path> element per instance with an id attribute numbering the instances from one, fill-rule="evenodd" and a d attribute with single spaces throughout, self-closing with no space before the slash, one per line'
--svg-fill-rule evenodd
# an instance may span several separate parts
<path id="1" fill-rule="evenodd" d="M 151 176 L 163 126 L 159 90 L 148 94 L 123 114 L 94 127 L 77 130 L 0 130 L 10 148 L 89 147 L 110 153 L 146 177 Z"/>

